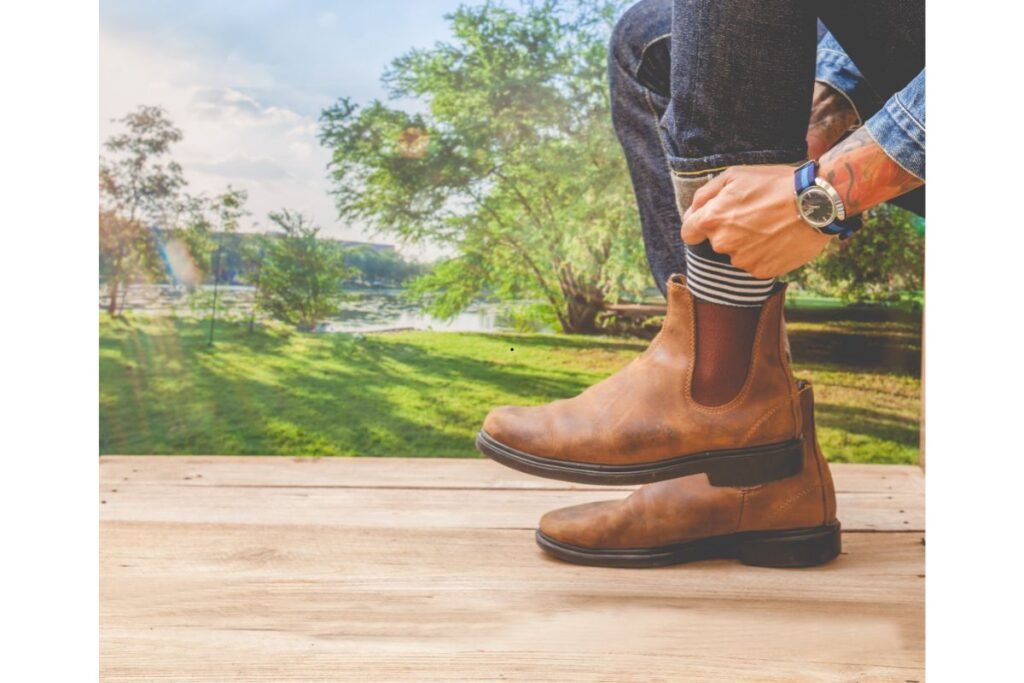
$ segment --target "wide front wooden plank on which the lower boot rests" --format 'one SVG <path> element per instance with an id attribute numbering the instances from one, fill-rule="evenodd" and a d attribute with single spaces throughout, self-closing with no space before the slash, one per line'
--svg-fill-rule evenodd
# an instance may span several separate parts
<path id="1" fill-rule="evenodd" d="M 630 571 L 529 531 L 101 524 L 103 680 L 923 680 L 924 548 Z"/>

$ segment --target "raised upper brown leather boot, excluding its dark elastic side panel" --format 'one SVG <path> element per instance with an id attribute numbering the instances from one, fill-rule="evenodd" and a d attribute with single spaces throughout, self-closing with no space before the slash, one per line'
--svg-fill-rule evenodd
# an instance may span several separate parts
<path id="1" fill-rule="evenodd" d="M 693 299 L 669 281 L 669 311 L 646 351 L 579 396 L 495 409 L 476 446 L 529 474 L 581 483 L 647 483 L 699 472 L 743 486 L 800 471 L 799 408 L 782 322 L 785 287 L 763 305 L 746 381 L 722 405 L 693 399 Z"/>

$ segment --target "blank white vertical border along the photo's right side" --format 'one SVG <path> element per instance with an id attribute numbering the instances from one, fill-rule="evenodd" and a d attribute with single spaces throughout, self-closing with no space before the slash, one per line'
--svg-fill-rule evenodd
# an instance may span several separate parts
<path id="1" fill-rule="evenodd" d="M 1019 677 L 1022 11 L 928 5 L 928 680 Z"/>

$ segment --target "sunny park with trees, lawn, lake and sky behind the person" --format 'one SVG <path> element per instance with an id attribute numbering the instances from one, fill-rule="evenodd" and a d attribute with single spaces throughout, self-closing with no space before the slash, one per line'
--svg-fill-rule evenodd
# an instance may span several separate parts
<path id="1" fill-rule="evenodd" d="M 101 454 L 476 457 L 643 350 L 628 3 L 161 4 L 100 3 Z M 833 461 L 918 462 L 923 258 L 882 207 L 787 278 Z"/>

